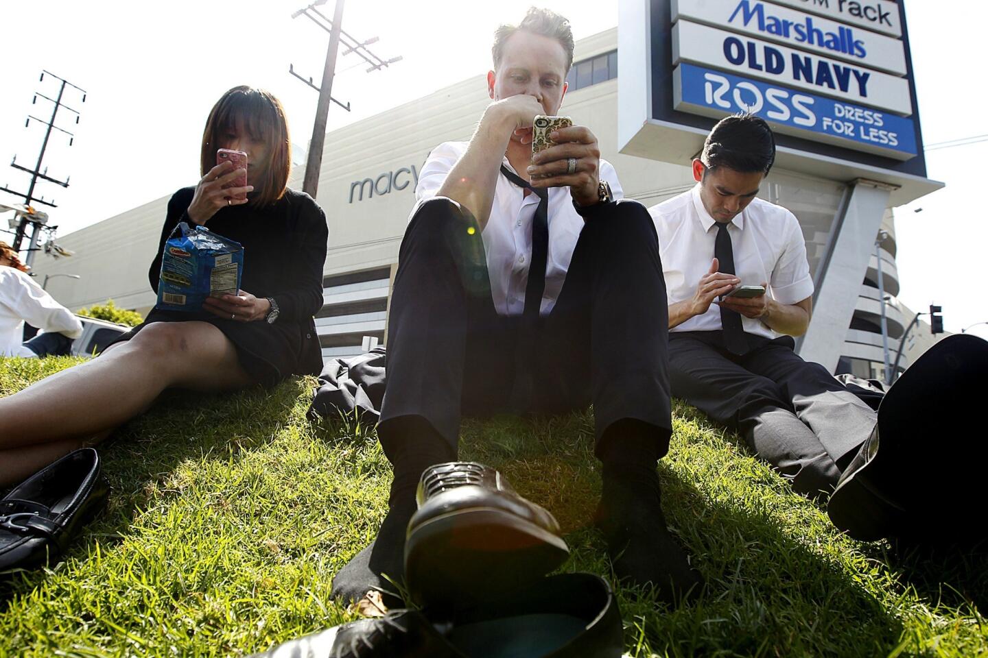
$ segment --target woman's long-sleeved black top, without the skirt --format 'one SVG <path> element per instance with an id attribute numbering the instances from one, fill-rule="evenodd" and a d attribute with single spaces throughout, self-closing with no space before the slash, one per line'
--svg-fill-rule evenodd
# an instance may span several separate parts
<path id="1" fill-rule="evenodd" d="M 147 272 L 158 291 L 161 254 L 179 222 L 188 222 L 195 187 L 184 187 L 168 202 L 158 254 Z M 240 289 L 255 297 L 274 297 L 279 319 L 305 321 L 322 308 L 322 268 L 326 261 L 326 215 L 305 192 L 287 189 L 285 196 L 263 208 L 251 204 L 221 208 L 206 228 L 244 248 Z"/>

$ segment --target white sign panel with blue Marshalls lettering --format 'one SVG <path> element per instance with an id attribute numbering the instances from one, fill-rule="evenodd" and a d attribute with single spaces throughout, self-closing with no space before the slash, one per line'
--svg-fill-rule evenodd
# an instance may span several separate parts
<path id="1" fill-rule="evenodd" d="M 673 0 L 672 14 L 673 23 L 691 19 L 867 68 L 906 74 L 902 41 L 762 0 Z"/>

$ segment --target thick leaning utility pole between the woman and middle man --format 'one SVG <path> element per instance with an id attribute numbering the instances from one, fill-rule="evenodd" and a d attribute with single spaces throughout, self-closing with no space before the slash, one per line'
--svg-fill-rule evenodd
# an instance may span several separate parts
<path id="1" fill-rule="evenodd" d="M 393 64 L 401 59 L 401 57 L 398 56 L 384 60 L 373 54 L 367 46 L 375 42 L 377 37 L 369 38 L 366 41 L 358 41 L 356 38 L 344 32 L 342 28 L 343 3 L 344 0 L 336 0 L 336 8 L 333 11 L 332 21 L 316 9 L 317 6 L 326 4 L 326 0 L 315 0 L 315 2 L 308 7 L 299 9 L 291 15 L 291 18 L 305 16 L 307 19 L 329 33 L 329 46 L 326 49 L 326 64 L 322 70 L 322 84 L 319 87 L 316 87 L 312 83 L 312 78 L 306 80 L 302 76 L 295 73 L 294 66 L 288 64 L 288 73 L 319 92 L 319 101 L 316 104 L 315 110 L 315 121 L 312 123 L 312 139 L 309 140 L 308 159 L 305 162 L 305 179 L 302 183 L 302 191 L 312 198 L 315 198 L 316 191 L 319 187 L 319 172 L 322 168 L 322 151 L 326 142 L 326 120 L 329 114 L 329 102 L 332 101 L 344 110 L 350 111 L 350 103 L 343 105 L 332 96 L 333 78 L 336 74 L 336 56 L 340 49 L 340 42 L 342 41 L 343 44 L 347 46 L 347 49 L 343 52 L 344 56 L 350 54 L 351 52 L 356 52 L 365 61 L 371 64 L 371 67 L 368 69 L 369 73 Z"/>

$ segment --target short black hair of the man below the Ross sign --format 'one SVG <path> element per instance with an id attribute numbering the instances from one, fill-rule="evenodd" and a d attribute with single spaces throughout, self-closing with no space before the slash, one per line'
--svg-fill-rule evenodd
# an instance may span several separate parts
<path id="1" fill-rule="evenodd" d="M 768 174 L 776 162 L 776 137 L 759 116 L 726 116 L 706 136 L 700 162 L 709 171 L 726 167 L 742 174 Z"/>

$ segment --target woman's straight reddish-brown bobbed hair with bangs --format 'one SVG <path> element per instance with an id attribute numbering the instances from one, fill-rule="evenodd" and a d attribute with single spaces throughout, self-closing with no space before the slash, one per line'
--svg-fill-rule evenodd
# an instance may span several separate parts
<path id="1" fill-rule="evenodd" d="M 264 180 L 251 182 L 252 205 L 268 205 L 285 195 L 291 169 L 291 142 L 285 108 L 271 92 L 242 85 L 223 94 L 209 111 L 203 131 L 201 153 L 202 176 L 216 166 L 220 138 L 231 128 L 242 127 L 256 140 L 268 144 L 268 163 Z"/>

